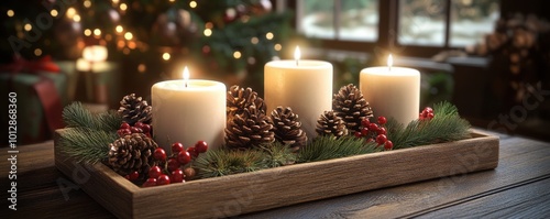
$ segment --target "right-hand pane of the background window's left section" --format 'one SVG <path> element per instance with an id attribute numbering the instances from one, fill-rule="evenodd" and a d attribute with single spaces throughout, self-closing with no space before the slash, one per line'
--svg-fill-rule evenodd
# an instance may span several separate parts
<path id="1" fill-rule="evenodd" d="M 342 0 L 339 39 L 376 41 L 378 39 L 378 0 Z"/>

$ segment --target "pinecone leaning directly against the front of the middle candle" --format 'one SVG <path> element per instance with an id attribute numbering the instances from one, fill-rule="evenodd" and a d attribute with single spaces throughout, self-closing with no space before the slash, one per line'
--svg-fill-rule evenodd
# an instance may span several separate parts
<path id="1" fill-rule="evenodd" d="M 308 138 L 306 132 L 301 130 L 298 114 L 295 114 L 293 109 L 277 107 L 272 111 L 270 120 L 273 124 L 276 141 L 288 144 L 288 146 L 293 147 L 293 151 L 306 145 Z"/>

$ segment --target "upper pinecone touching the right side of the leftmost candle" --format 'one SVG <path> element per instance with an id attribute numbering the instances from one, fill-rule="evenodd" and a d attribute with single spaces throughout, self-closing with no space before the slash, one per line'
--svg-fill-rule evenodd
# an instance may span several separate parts
<path id="1" fill-rule="evenodd" d="M 250 106 L 255 106 L 258 111 L 265 114 L 266 106 L 262 98 L 257 97 L 257 92 L 253 91 L 252 88 L 246 89 L 239 88 L 239 86 L 233 85 L 228 91 L 228 121 L 235 114 L 242 114 L 244 109 Z"/>

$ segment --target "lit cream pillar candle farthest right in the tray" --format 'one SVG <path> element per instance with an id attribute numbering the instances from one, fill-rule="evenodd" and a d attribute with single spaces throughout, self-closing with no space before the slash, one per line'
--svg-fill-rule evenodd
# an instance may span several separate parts
<path id="1" fill-rule="evenodd" d="M 394 67 L 392 55 L 387 58 L 387 66 L 361 70 L 360 89 L 375 117 L 393 117 L 405 125 L 418 119 L 420 73 L 413 68 Z"/>

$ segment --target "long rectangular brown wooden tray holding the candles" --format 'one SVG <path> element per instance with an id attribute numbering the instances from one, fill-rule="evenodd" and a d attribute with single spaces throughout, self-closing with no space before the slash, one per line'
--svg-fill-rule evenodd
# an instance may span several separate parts
<path id="1" fill-rule="evenodd" d="M 472 130 L 471 139 L 455 142 L 150 188 L 135 186 L 103 164 L 82 168 L 59 152 L 57 141 L 55 165 L 119 218 L 221 218 L 493 169 L 498 165 L 498 136 Z M 89 177 L 78 174 L 81 171 Z"/>

